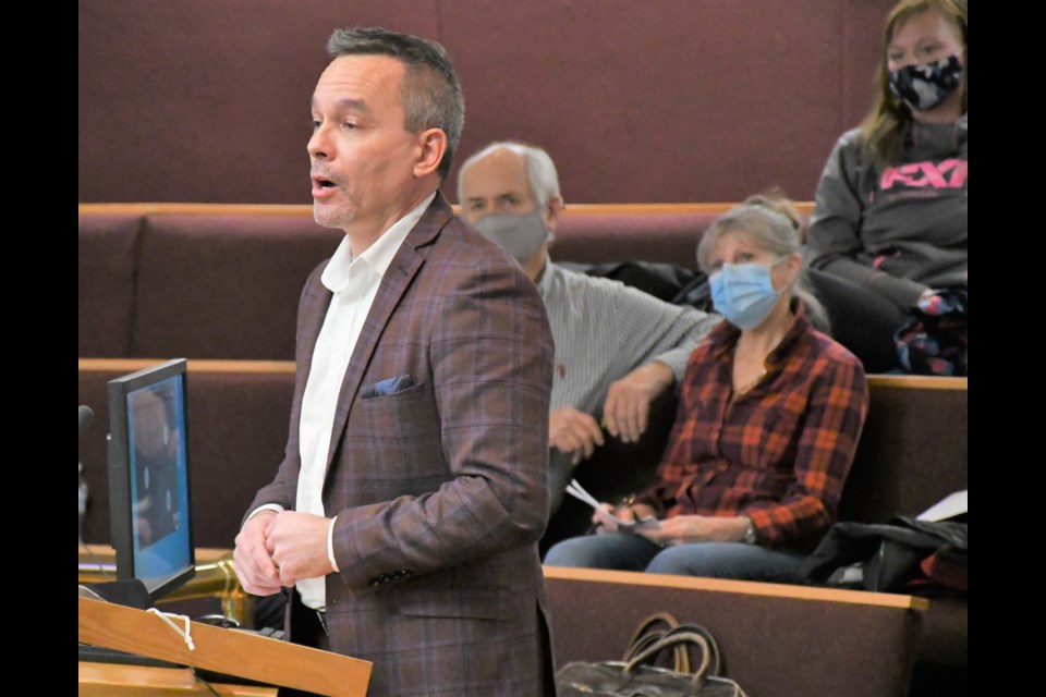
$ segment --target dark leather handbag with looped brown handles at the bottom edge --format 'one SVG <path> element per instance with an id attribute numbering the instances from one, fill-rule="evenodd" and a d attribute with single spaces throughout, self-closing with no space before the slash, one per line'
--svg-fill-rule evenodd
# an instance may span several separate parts
<path id="1" fill-rule="evenodd" d="M 657 665 L 669 651 L 672 667 Z M 559 697 L 746 697 L 721 669 L 719 645 L 706 628 L 658 613 L 640 624 L 623 660 L 568 663 L 556 689 Z"/>

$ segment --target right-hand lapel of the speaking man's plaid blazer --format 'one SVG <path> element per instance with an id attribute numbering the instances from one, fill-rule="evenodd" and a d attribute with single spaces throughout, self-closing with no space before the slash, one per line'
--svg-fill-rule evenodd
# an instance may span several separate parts
<path id="1" fill-rule="evenodd" d="M 403 294 L 410 288 L 411 281 L 414 280 L 414 277 L 417 276 L 425 264 L 425 257 L 418 253 L 418 249 L 431 243 L 452 217 L 453 211 L 447 199 L 437 192 L 436 198 L 433 199 L 417 224 L 408 233 L 406 239 L 400 245 L 396 256 L 392 257 L 392 262 L 381 278 L 378 293 L 375 295 L 367 319 L 360 330 L 360 338 L 356 340 L 356 346 L 353 348 L 352 358 L 349 360 L 349 367 L 345 369 L 345 377 L 341 383 L 338 406 L 335 409 L 335 424 L 330 433 L 331 447 L 327 449 L 327 472 L 330 470 L 330 463 L 333 462 L 335 453 L 339 450 L 341 436 L 349 420 L 349 412 L 355 402 L 356 393 L 360 391 L 360 382 L 367 371 L 367 366 L 370 364 L 378 341 L 381 339 L 381 333 L 403 298 Z"/>

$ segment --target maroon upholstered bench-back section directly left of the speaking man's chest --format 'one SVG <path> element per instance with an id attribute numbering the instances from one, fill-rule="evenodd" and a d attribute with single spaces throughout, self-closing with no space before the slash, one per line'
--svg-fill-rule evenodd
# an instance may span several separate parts
<path id="1" fill-rule="evenodd" d="M 343 235 L 303 216 L 150 216 L 131 355 L 293 360 L 305 279 Z"/>

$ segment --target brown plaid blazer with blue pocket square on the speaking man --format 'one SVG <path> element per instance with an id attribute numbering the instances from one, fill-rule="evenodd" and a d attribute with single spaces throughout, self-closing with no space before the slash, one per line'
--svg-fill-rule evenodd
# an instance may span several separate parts
<path id="1" fill-rule="evenodd" d="M 284 460 L 248 510 L 295 501 L 326 264 L 299 307 Z M 331 650 L 374 662 L 369 697 L 554 694 L 536 547 L 551 381 L 535 285 L 437 194 L 364 323 L 324 485 L 341 570 L 327 577 Z"/>

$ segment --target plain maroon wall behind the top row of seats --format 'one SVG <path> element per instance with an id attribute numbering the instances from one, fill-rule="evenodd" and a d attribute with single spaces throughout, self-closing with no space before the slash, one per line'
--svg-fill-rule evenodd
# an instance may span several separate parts
<path id="1" fill-rule="evenodd" d="M 893 0 L 80 0 L 80 201 L 308 204 L 338 26 L 440 41 L 458 162 L 543 145 L 568 201 L 813 198 L 871 105 Z M 457 200 L 457 166 L 445 192 Z"/>

